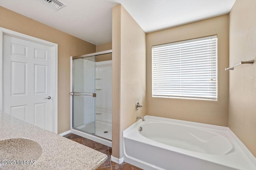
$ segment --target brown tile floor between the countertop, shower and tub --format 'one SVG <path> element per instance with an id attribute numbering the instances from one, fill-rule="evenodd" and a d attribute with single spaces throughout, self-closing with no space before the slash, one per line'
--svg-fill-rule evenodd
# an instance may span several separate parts
<path id="1" fill-rule="evenodd" d="M 66 137 L 68 139 L 71 139 L 72 141 L 85 145 L 86 147 L 90 147 L 92 149 L 98 150 L 99 152 L 106 154 L 108 156 L 108 159 L 97 170 L 142 170 L 126 162 L 123 162 L 122 164 L 117 164 L 116 162 L 111 161 L 110 160 L 110 155 L 112 154 L 111 147 L 102 145 L 101 143 L 92 141 L 90 139 L 86 139 L 84 137 L 80 137 L 73 133 L 69 133 L 67 135 L 64 135 L 63 137 Z"/>

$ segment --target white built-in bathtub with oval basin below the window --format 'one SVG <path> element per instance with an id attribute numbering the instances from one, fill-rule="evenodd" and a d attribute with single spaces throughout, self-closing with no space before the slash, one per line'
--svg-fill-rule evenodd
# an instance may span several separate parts
<path id="1" fill-rule="evenodd" d="M 123 131 L 125 162 L 145 170 L 256 170 L 256 158 L 228 127 L 145 118 Z"/>

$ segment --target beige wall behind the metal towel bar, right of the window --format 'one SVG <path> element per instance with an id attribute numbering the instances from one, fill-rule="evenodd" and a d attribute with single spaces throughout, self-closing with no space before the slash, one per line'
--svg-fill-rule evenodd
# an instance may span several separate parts
<path id="1" fill-rule="evenodd" d="M 256 61 L 256 1 L 236 0 L 230 12 L 230 66 Z M 256 156 L 256 63 L 230 73 L 229 128 Z"/>

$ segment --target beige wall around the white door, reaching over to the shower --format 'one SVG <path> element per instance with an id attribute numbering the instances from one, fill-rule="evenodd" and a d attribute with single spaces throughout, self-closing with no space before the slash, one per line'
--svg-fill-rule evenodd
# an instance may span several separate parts
<path id="1" fill-rule="evenodd" d="M 58 133 L 70 130 L 70 56 L 94 53 L 96 46 L 2 6 L 0 27 L 58 44 Z"/>

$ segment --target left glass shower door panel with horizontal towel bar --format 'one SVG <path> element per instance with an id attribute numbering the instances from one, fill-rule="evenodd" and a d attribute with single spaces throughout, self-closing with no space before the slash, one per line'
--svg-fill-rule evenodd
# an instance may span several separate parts
<path id="1" fill-rule="evenodd" d="M 73 128 L 95 134 L 95 56 L 73 59 Z"/>

